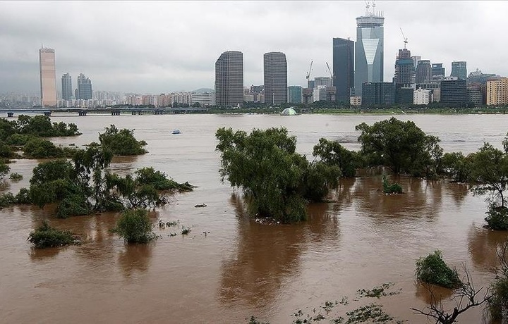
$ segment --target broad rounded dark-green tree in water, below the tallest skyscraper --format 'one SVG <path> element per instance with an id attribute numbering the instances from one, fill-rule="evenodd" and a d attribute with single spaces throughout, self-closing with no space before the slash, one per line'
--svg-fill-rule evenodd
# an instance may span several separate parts
<path id="1" fill-rule="evenodd" d="M 437 137 L 425 135 L 411 120 L 382 120 L 369 126 L 356 125 L 361 132 L 361 154 L 368 166 L 387 166 L 394 173 L 432 177 L 440 168 L 442 149 Z"/>

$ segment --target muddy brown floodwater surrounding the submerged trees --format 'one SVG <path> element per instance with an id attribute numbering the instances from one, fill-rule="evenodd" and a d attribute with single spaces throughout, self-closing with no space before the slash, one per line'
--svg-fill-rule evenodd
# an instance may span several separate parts
<path id="1" fill-rule="evenodd" d="M 327 300 L 354 296 L 357 289 L 394 282 L 401 294 L 381 299 L 385 309 L 409 323 L 427 323 L 410 307 L 423 308 L 425 289 L 415 285 L 415 261 L 435 249 L 461 268 L 465 263 L 477 286 L 488 285 L 496 264 L 495 247 L 506 232 L 482 228 L 484 197 L 461 185 L 400 177 L 404 195 L 385 196 L 380 176 L 341 181 L 327 204 L 308 208 L 310 220 L 296 225 L 262 225 L 245 217 L 240 194 L 219 177 L 214 151 L 218 127 L 251 130 L 284 126 L 296 135 L 297 149 L 311 155 L 320 137 L 358 149 L 359 123 L 391 116 L 71 116 L 83 135 L 56 138 L 77 146 L 97 141 L 104 127 L 135 129 L 148 154 L 116 158 L 121 174 L 153 166 L 195 192 L 174 196 L 152 220 L 179 221 L 159 229 L 162 238 L 126 245 L 109 232 L 116 214 L 58 220 L 84 242 L 60 249 L 31 249 L 28 233 L 51 209 L 14 206 L 0 211 L 0 323 L 247 323 L 251 315 L 270 323 L 291 323 L 291 313 L 310 311 Z M 501 147 L 508 116 L 397 116 L 413 120 L 441 139 L 444 151 L 476 151 L 483 142 Z M 182 134 L 172 135 L 178 128 Z M 28 187 L 37 161 L 19 160 L 3 192 Z M 207 204 L 195 208 L 195 204 Z M 186 236 L 170 237 L 181 226 Z M 207 235 L 204 234 L 206 232 Z M 471 309 L 460 323 L 480 323 Z"/>

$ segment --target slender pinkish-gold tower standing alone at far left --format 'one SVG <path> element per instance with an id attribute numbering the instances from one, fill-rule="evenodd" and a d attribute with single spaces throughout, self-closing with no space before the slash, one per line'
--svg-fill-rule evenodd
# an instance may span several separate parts
<path id="1" fill-rule="evenodd" d="M 39 70 L 41 84 L 41 106 L 56 107 L 56 69 L 54 49 L 39 50 Z"/>

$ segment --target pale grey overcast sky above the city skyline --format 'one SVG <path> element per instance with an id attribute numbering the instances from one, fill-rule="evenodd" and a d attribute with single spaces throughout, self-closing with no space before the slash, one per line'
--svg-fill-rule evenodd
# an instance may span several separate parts
<path id="1" fill-rule="evenodd" d="M 412 55 L 468 71 L 508 75 L 508 1 L 376 1 L 385 16 L 385 81 L 399 28 Z M 283 51 L 288 84 L 332 68 L 332 38 L 356 40 L 365 1 L 0 1 L 0 93 L 39 88 L 41 44 L 55 49 L 60 77 L 79 73 L 94 90 L 163 93 L 213 88 L 224 51 L 243 52 L 244 85 L 262 85 L 262 55 Z"/>

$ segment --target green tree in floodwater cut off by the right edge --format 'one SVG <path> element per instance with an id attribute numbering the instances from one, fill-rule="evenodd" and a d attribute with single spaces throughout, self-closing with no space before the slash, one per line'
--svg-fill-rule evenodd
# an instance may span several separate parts
<path id="1" fill-rule="evenodd" d="M 504 191 L 508 187 L 508 154 L 485 143 L 470 156 L 473 192 L 490 193 L 488 201 L 491 207 L 504 206 Z"/>

